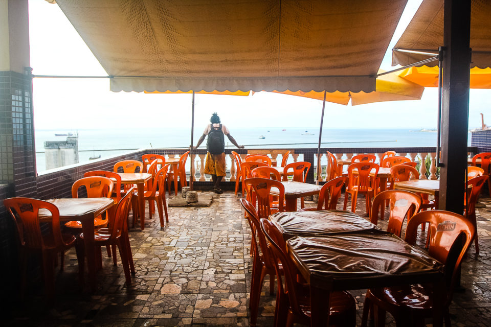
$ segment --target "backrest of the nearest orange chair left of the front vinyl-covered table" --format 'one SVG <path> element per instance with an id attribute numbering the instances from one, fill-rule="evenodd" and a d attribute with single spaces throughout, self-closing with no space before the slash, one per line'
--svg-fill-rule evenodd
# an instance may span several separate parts
<path id="1" fill-rule="evenodd" d="M 273 254 L 276 275 L 278 278 L 282 278 L 282 276 L 285 277 L 285 287 L 283 287 L 281 281 L 278 281 L 278 293 L 286 293 L 293 313 L 301 315 L 302 311 L 298 302 L 299 298 L 297 297 L 297 294 L 302 293 L 299 289 L 299 283 L 297 283 L 297 276 L 300 274 L 300 271 L 298 271 L 298 268 L 292 263 L 292 260 L 289 259 L 288 254 L 286 253 L 285 241 L 278 228 L 272 222 L 264 218 L 259 221 L 259 224 L 264 237 L 267 240 L 267 246 L 271 250 L 271 254 Z M 283 273 L 280 271 L 278 263 L 281 263 Z"/>

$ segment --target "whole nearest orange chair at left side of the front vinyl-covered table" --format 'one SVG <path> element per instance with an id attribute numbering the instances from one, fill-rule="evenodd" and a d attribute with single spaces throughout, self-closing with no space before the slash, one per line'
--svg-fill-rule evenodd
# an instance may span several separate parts
<path id="1" fill-rule="evenodd" d="M 286 253 L 286 244 L 278 228 L 266 219 L 260 220 L 261 230 L 267 239 L 268 248 L 274 256 L 278 276 L 275 326 L 293 326 L 294 323 L 310 325 L 310 292 L 308 285 L 301 283 L 300 272 Z M 281 266 L 280 266 L 281 264 Z M 281 270 L 280 270 L 281 267 Z M 282 276 L 284 276 L 284 286 Z M 346 291 L 330 293 L 329 325 L 355 326 L 356 308 L 353 296 Z"/>

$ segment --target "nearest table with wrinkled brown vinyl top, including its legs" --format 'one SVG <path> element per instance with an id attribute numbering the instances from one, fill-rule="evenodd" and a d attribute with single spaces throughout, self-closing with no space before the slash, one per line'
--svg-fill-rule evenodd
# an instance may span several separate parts
<path id="1" fill-rule="evenodd" d="M 311 326 L 327 326 L 331 291 L 433 283 L 434 326 L 441 326 L 443 265 L 391 233 L 372 230 L 294 237 L 287 252 L 310 287 Z M 438 300 L 441 298 L 441 300 Z"/>

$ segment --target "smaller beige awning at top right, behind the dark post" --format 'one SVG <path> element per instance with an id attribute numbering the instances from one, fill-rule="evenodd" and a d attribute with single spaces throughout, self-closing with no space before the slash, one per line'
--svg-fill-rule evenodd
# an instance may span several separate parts
<path id="1" fill-rule="evenodd" d="M 491 66 L 491 1 L 472 0 L 471 3 L 471 68 Z M 394 49 L 422 50 L 438 53 L 443 45 L 443 1 L 423 0 L 406 31 Z M 409 65 L 428 56 L 392 52 L 392 65 Z M 438 65 L 438 61 L 427 64 Z"/>

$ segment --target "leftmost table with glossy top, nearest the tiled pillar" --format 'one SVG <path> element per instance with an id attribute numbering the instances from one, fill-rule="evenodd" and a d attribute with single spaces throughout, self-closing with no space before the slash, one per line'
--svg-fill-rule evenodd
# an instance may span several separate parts
<path id="1" fill-rule="evenodd" d="M 94 219 L 114 205 L 113 199 L 108 198 L 84 198 L 84 199 L 51 199 L 60 211 L 60 221 L 78 220 L 82 223 L 83 243 L 87 258 L 88 278 L 91 289 L 96 288 L 96 250 L 94 242 Z M 41 209 L 40 220 L 50 220 L 51 213 Z M 83 275 L 80 276 L 83 278 Z M 82 279 L 83 281 L 83 279 Z"/>

